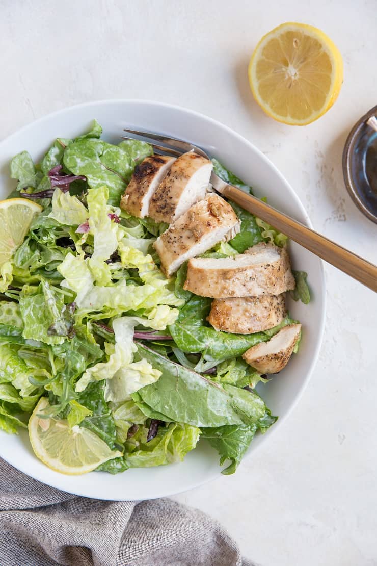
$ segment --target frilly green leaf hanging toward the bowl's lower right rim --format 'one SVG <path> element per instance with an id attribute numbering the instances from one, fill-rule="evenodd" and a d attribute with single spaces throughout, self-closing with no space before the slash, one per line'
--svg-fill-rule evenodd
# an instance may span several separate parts
<path id="1" fill-rule="evenodd" d="M 231 461 L 222 474 L 235 473 L 256 431 L 256 424 L 231 424 L 216 428 L 202 428 L 203 438 L 207 439 L 220 454 L 220 466 L 226 460 Z"/>

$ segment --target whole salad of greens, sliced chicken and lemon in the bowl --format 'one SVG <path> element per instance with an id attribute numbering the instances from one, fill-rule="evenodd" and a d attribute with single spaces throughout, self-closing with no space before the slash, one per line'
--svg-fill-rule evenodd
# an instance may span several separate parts
<path id="1" fill-rule="evenodd" d="M 102 128 L 10 166 L 0 203 L 0 428 L 63 474 L 183 460 L 233 473 L 276 419 L 255 391 L 299 350 L 287 238 L 210 186 L 218 161 Z M 298 353 L 298 355 L 300 355 Z M 279 378 L 276 378 L 279 379 Z"/>

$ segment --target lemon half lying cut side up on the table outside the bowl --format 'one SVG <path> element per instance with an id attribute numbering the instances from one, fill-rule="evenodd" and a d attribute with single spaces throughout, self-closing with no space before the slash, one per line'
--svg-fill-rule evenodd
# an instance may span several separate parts
<path id="1" fill-rule="evenodd" d="M 335 102 L 343 82 L 343 60 L 320 29 L 289 22 L 259 41 L 250 59 L 249 82 L 266 114 L 304 126 Z"/>

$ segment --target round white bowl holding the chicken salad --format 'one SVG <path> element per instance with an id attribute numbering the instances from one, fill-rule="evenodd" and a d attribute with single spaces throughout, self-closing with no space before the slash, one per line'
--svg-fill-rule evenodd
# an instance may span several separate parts
<path id="1" fill-rule="evenodd" d="M 191 110 L 145 100 L 109 100 L 89 102 L 50 114 L 0 143 L 0 198 L 6 198 L 15 186 L 9 177 L 11 158 L 23 149 L 38 161 L 57 137 L 73 138 L 90 126 L 93 118 L 103 127 L 103 138 L 118 143 L 124 127 L 135 127 L 171 134 L 193 141 L 210 155 L 253 186 L 257 196 L 280 211 L 311 226 L 309 217 L 292 187 L 278 169 L 248 140 L 219 122 Z M 268 443 L 271 434 L 292 410 L 309 381 L 322 340 L 325 315 L 325 286 L 322 262 L 296 243 L 291 244 L 293 267 L 306 271 L 311 289 L 309 305 L 289 303 L 293 318 L 303 325 L 300 351 L 287 368 L 259 389 L 279 420 L 265 435 L 257 435 L 245 457 Z M 138 500 L 167 496 L 200 486 L 219 477 L 219 457 L 206 441 L 190 452 L 181 464 L 159 468 L 131 469 L 112 476 L 93 472 L 67 476 L 47 468 L 34 456 L 27 433 L 19 436 L 0 431 L 0 456 L 25 474 L 50 486 L 73 494 L 111 500 Z"/>

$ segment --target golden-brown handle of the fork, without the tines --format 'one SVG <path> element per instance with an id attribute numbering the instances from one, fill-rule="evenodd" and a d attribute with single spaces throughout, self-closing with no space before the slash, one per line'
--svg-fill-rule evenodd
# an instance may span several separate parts
<path id="1" fill-rule="evenodd" d="M 246 194 L 237 187 L 224 185 L 221 187 L 220 192 L 227 199 L 235 201 L 246 211 L 268 222 L 268 224 L 274 226 L 276 230 L 283 232 L 294 242 L 304 246 L 319 258 L 335 265 L 335 267 L 377 293 L 376 265 L 345 250 L 344 247 L 338 246 L 335 242 L 293 220 L 293 218 L 285 216 L 275 210 L 275 208 L 270 207 L 270 205 L 263 203 L 262 200 Z"/>

